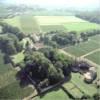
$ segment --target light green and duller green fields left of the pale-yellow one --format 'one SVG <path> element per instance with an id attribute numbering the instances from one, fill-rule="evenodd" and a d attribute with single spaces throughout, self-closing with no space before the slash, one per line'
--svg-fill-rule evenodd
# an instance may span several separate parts
<path id="1" fill-rule="evenodd" d="M 25 34 L 26 33 L 30 34 L 30 33 L 40 31 L 36 19 L 31 15 L 21 15 L 13 18 L 8 18 L 8 19 L 4 19 L 3 22 L 18 27 Z"/>

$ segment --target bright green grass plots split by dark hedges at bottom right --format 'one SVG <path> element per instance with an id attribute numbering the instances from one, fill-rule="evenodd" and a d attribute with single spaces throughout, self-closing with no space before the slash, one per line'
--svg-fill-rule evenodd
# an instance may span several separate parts
<path id="1" fill-rule="evenodd" d="M 62 87 L 54 89 L 40 97 L 38 96 L 33 100 L 70 100 L 68 93 L 74 98 L 81 98 L 84 95 L 92 97 L 97 91 L 95 85 L 84 82 L 82 75 L 73 73 L 71 80 L 64 83 Z"/>

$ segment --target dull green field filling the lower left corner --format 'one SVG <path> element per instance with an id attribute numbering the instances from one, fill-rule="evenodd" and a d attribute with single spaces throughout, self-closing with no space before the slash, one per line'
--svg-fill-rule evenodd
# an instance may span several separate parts
<path id="1" fill-rule="evenodd" d="M 16 74 L 11 64 L 4 63 L 4 54 L 0 52 L 0 99 L 21 99 L 33 92 L 30 87 L 20 87 Z"/>

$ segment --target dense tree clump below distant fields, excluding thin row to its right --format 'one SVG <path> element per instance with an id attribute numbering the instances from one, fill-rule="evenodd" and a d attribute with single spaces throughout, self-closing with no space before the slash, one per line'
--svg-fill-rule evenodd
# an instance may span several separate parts
<path id="1" fill-rule="evenodd" d="M 61 47 L 64 45 L 74 45 L 78 42 L 77 33 L 72 32 L 50 32 L 44 38 L 42 38 L 44 44 L 50 45 L 52 47 Z"/>

